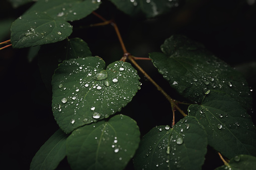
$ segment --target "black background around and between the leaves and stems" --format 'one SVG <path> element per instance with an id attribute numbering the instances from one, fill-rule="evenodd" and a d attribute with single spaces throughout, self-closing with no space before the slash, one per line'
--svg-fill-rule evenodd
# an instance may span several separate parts
<path id="1" fill-rule="evenodd" d="M 186 35 L 201 42 L 217 57 L 235 67 L 244 75 L 251 89 L 255 89 L 256 6 L 248 2 L 187 0 L 162 18 L 145 19 L 143 16 L 131 18 L 104 1 L 97 13 L 106 19 L 114 16 L 126 48 L 134 56 L 148 57 L 150 52 L 160 52 L 160 45 L 171 35 Z M 0 21 L 15 20 L 32 4 L 14 9 L 8 1 L 1 1 Z M 102 57 L 108 65 L 123 55 L 114 29 L 111 26 L 79 28 L 100 22 L 90 15 L 71 23 L 74 32 L 70 38 L 79 37 L 86 41 L 93 55 Z M 0 37 L 1 42 L 9 39 L 10 33 Z M 29 48 L 9 47 L 0 51 L 1 168 L 29 169 L 37 150 L 58 129 L 51 112 L 51 91 L 41 79 L 37 58 L 28 59 L 28 54 Z M 151 61 L 138 63 L 171 97 L 185 100 L 170 89 Z M 170 124 L 172 113 L 168 101 L 142 74 L 139 75 L 141 90 L 121 113 L 135 119 L 144 135 L 155 125 Z M 252 96 L 255 99 L 255 90 Z M 249 114 L 254 120 L 254 113 Z M 179 119 L 178 112 L 176 115 Z M 205 164 L 203 169 L 213 169 L 223 163 L 217 153 L 209 148 Z M 59 169 L 65 167 L 68 169 L 64 160 Z M 132 162 L 127 169 L 132 169 Z"/>

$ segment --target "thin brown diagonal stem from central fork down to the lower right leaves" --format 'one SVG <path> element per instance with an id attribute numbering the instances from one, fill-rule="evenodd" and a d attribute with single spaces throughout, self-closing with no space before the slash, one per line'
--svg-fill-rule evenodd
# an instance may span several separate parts
<path id="1" fill-rule="evenodd" d="M 177 110 L 179 110 L 179 112 L 185 117 L 187 116 L 187 114 L 184 113 L 184 111 L 182 109 L 180 109 L 179 106 L 177 106 L 175 104 L 175 100 L 172 99 L 134 60 L 133 56 L 129 55 L 128 59 L 132 62 L 132 64 L 135 65 L 135 67 L 137 67 L 137 69 L 157 88 L 157 90 L 159 90 L 164 97 L 170 102 L 171 106 L 172 106 L 172 110 L 174 108 L 176 108 Z M 173 120 L 174 121 L 174 120 Z"/>

